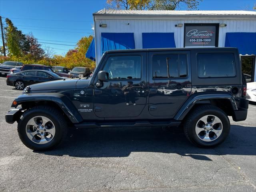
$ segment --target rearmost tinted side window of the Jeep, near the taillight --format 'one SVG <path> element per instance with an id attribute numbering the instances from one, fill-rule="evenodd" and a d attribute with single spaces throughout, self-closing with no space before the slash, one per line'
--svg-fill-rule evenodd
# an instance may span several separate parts
<path id="1" fill-rule="evenodd" d="M 200 78 L 236 76 L 233 53 L 199 53 L 196 58 Z"/>

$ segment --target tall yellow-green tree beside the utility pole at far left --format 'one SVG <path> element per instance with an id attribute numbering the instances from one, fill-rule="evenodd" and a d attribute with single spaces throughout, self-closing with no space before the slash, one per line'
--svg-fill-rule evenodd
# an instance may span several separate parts
<path id="1" fill-rule="evenodd" d="M 14 26 L 10 19 L 6 18 L 5 22 L 7 24 L 4 29 L 6 34 L 5 40 L 8 53 L 12 56 L 22 56 L 24 52 L 29 50 L 29 44 L 26 41 L 26 35 L 24 35 L 22 31 L 18 30 L 18 28 Z"/>

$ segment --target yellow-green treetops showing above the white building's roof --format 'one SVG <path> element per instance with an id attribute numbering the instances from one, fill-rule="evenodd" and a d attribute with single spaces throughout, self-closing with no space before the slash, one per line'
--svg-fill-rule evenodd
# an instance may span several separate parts
<path id="1" fill-rule="evenodd" d="M 109 8 L 126 10 L 175 10 L 187 7 L 196 9 L 202 0 L 107 0 Z"/>

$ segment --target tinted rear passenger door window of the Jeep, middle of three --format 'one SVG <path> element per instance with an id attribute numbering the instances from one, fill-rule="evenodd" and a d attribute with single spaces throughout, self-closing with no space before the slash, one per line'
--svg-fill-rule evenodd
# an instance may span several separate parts
<path id="1" fill-rule="evenodd" d="M 154 55 L 152 58 L 152 71 L 153 78 L 186 77 L 186 54 Z"/>

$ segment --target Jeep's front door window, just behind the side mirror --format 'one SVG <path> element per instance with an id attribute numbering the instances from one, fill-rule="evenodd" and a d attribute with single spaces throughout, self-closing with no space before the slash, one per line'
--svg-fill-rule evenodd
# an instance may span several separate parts
<path id="1" fill-rule="evenodd" d="M 104 69 L 109 79 L 140 79 L 141 56 L 112 56 L 109 57 Z"/>

